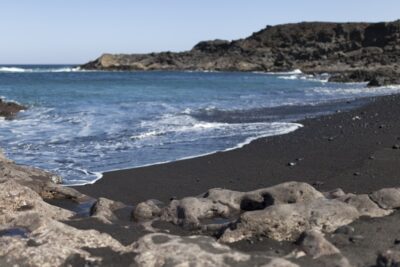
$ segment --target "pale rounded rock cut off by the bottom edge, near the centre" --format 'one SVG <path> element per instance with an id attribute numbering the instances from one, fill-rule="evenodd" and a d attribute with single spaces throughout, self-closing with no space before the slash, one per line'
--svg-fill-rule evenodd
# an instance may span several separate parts
<path id="1" fill-rule="evenodd" d="M 148 234 L 133 247 L 139 266 L 297 266 L 283 258 L 238 252 L 205 236 Z"/>

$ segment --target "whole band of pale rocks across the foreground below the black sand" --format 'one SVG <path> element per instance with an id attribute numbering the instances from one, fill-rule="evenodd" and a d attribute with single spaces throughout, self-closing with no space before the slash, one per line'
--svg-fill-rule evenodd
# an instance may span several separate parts
<path id="1" fill-rule="evenodd" d="M 286 182 L 129 206 L 60 182 L 0 154 L 1 266 L 400 264 L 399 188 L 357 195 Z"/>

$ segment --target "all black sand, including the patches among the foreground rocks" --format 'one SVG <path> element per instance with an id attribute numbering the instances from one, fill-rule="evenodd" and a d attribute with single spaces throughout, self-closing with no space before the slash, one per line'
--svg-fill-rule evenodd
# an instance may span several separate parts
<path id="1" fill-rule="evenodd" d="M 199 158 L 105 173 L 95 184 L 76 189 L 95 198 L 135 205 L 147 199 L 168 203 L 172 197 L 194 196 L 213 187 L 248 191 L 286 181 L 306 182 L 320 191 L 341 188 L 357 194 L 398 187 L 399 114 L 400 95 L 370 98 L 351 111 L 303 120 L 300 123 L 304 127 L 290 134 L 261 138 L 240 149 Z M 348 226 L 350 233 L 335 232 L 326 238 L 352 266 L 386 266 L 377 264 L 377 257 L 388 248 L 397 249 L 398 217 L 398 211 L 382 218 L 361 217 Z M 153 226 L 173 234 L 190 234 L 168 223 Z M 134 241 L 143 234 L 130 228 L 103 227 L 90 219 L 81 220 L 75 227 L 105 231 L 121 241 Z M 273 251 L 281 257 L 296 248 L 292 242 L 258 238 L 229 246 L 243 252 Z M 335 265 L 335 257 L 314 260 L 307 256 L 293 262 L 301 266 L 342 266 Z"/>

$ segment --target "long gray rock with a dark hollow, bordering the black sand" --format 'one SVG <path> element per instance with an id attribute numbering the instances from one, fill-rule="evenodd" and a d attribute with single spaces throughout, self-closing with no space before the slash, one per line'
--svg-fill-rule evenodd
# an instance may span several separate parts
<path id="1" fill-rule="evenodd" d="M 298 182 L 282 183 L 250 192 L 215 188 L 200 197 L 171 201 L 162 209 L 161 218 L 174 224 L 200 228 L 202 219 L 229 218 L 238 216 L 243 211 L 262 210 L 274 204 L 307 202 L 323 198 L 324 196 L 309 184 Z M 141 204 L 140 210 L 148 211 L 147 216 L 152 218 L 151 208 L 147 206 L 149 205 Z"/>

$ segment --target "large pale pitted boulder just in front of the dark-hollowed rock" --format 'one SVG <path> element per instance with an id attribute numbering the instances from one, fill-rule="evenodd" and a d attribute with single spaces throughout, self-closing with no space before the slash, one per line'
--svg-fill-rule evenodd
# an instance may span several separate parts
<path id="1" fill-rule="evenodd" d="M 266 236 L 277 241 L 294 241 L 308 230 L 332 232 L 359 217 L 353 206 L 338 200 L 273 205 L 264 210 L 245 212 L 236 229 L 227 229 L 221 242 L 232 243 L 251 236 Z"/>

